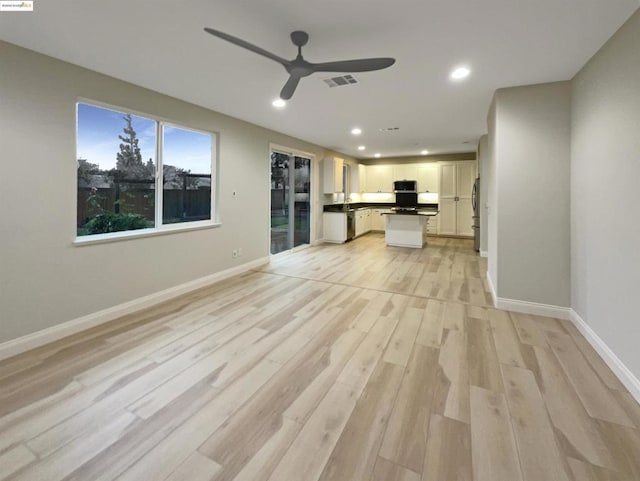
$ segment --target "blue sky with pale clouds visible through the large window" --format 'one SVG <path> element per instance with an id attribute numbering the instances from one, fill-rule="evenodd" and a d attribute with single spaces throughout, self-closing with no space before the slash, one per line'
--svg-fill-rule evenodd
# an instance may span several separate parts
<path id="1" fill-rule="evenodd" d="M 77 156 L 98 164 L 100 169 L 116 166 L 120 151 L 124 113 L 78 103 Z M 156 122 L 132 115 L 133 130 L 138 137 L 142 160 L 156 162 Z M 164 164 L 191 170 L 211 172 L 211 136 L 182 128 L 164 127 Z"/>

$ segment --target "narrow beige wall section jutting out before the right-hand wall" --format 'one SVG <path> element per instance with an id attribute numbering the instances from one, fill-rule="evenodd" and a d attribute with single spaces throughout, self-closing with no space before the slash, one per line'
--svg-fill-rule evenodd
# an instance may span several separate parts
<path id="1" fill-rule="evenodd" d="M 569 82 L 496 92 L 492 281 L 501 299 L 570 305 L 570 115 Z"/>

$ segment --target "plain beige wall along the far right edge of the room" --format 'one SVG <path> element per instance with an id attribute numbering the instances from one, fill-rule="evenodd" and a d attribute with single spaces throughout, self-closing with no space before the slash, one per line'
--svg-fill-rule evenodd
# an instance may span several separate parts
<path id="1" fill-rule="evenodd" d="M 640 11 L 572 83 L 571 280 L 577 314 L 640 377 Z"/>

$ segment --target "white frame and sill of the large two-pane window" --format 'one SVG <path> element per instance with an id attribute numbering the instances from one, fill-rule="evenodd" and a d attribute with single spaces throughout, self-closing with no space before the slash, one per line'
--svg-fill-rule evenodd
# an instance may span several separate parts
<path id="1" fill-rule="evenodd" d="M 109 109 L 115 111 L 117 113 L 122 114 L 131 114 L 139 117 L 144 117 L 149 120 L 153 120 L 156 123 L 156 159 L 155 159 L 155 226 L 149 227 L 147 229 L 134 229 L 127 230 L 121 232 L 110 232 L 107 234 L 92 234 L 86 236 L 78 236 L 77 235 L 77 195 L 76 197 L 76 205 L 75 205 L 75 216 L 74 219 L 74 241 L 73 244 L 76 246 L 84 246 L 91 244 L 102 244 L 106 242 L 115 242 L 122 240 L 130 240 L 144 237 L 152 237 L 158 235 L 167 235 L 173 234 L 177 232 L 187 232 L 192 230 L 201 230 L 201 229 L 210 229 L 219 227 L 221 225 L 220 220 L 218 218 L 218 200 L 219 200 L 219 192 L 220 192 L 220 182 L 219 182 L 219 155 L 220 152 L 219 142 L 220 142 L 220 134 L 218 132 L 198 129 L 195 127 L 184 125 L 180 122 L 176 122 L 173 120 L 169 120 L 166 118 L 159 117 L 157 115 L 151 115 L 145 112 L 140 112 L 134 109 L 125 108 L 117 105 L 107 104 L 104 102 L 99 102 L 96 100 L 78 98 L 76 101 L 76 158 L 74 162 L 77 162 L 78 159 L 78 105 L 85 104 L 93 107 L 99 107 L 103 109 Z M 199 220 L 199 221 L 191 221 L 191 222 L 178 222 L 173 224 L 163 224 L 162 223 L 162 203 L 163 203 L 163 144 L 164 144 L 164 135 L 163 130 L 164 127 L 172 127 L 182 130 L 187 130 L 190 132 L 197 132 L 200 134 L 210 135 L 211 136 L 211 211 L 210 218 L 208 220 Z M 77 175 L 77 171 L 76 171 Z M 76 186 L 77 186 L 77 177 L 76 177 Z M 77 187 L 76 187 L 77 188 Z"/>

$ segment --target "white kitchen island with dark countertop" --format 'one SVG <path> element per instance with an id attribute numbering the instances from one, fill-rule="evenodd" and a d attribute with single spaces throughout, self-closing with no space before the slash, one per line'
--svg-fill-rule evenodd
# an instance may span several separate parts
<path id="1" fill-rule="evenodd" d="M 420 249 L 426 243 L 429 220 L 438 215 L 437 210 L 389 210 L 385 217 L 385 242 L 389 246 Z"/>

